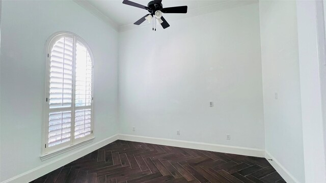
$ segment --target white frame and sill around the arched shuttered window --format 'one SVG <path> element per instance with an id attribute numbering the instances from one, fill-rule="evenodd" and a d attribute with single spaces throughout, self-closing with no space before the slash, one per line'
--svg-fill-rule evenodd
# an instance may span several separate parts
<path id="1" fill-rule="evenodd" d="M 49 79 L 50 79 L 50 53 L 53 45 L 60 40 L 61 38 L 68 37 L 73 39 L 73 67 L 72 67 L 72 96 L 71 96 L 71 107 L 67 107 L 67 110 L 71 111 L 71 136 L 70 140 L 67 142 L 63 142 L 58 145 L 54 145 L 51 147 L 48 147 L 48 128 L 49 128 Z M 75 106 L 75 67 L 76 67 L 76 43 L 77 41 L 79 43 L 82 43 L 83 46 L 86 47 L 91 60 L 92 60 L 92 103 L 91 103 L 91 134 L 87 135 L 86 137 L 80 137 L 75 139 L 74 133 L 75 133 L 75 111 L 78 110 L 79 107 Z M 44 87 L 44 103 L 43 103 L 43 123 L 42 123 L 42 152 L 41 152 L 41 160 L 46 160 L 48 158 L 51 158 L 53 156 L 57 156 L 59 154 L 65 153 L 68 150 L 71 150 L 73 148 L 76 148 L 80 145 L 84 145 L 86 143 L 91 142 L 95 136 L 95 130 L 94 130 L 94 78 L 95 78 L 95 72 L 94 72 L 94 56 L 93 52 L 90 49 L 90 46 L 87 44 L 87 42 L 80 36 L 71 33 L 71 32 L 57 32 L 52 34 L 46 41 L 45 44 L 45 87 Z M 86 106 L 85 106 L 86 107 Z M 60 110 L 60 108 L 58 108 Z"/>

